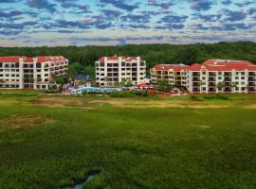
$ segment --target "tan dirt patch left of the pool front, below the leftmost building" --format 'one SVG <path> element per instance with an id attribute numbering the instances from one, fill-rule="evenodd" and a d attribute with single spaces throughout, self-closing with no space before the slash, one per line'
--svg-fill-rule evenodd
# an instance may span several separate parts
<path id="1" fill-rule="evenodd" d="M 32 105 L 47 106 L 47 107 L 77 107 L 82 106 L 82 99 L 54 96 L 54 97 L 40 97 L 30 102 Z"/>

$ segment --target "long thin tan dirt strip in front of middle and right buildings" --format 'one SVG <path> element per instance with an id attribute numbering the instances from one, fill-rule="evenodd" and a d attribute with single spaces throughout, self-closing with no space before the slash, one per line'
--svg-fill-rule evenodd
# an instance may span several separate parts
<path id="1" fill-rule="evenodd" d="M 92 104 L 109 104 L 118 107 L 127 108 L 193 108 L 193 109 L 220 109 L 227 108 L 228 106 L 219 105 L 197 105 L 197 104 L 178 104 L 165 101 L 123 101 L 123 100 L 93 100 L 89 103 Z"/>

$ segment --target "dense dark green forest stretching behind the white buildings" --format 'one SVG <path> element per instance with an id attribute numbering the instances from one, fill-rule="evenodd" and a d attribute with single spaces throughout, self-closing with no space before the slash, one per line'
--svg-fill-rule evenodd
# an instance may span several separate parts
<path id="1" fill-rule="evenodd" d="M 94 61 L 101 56 L 141 56 L 148 69 L 157 63 L 202 63 L 208 59 L 250 60 L 256 63 L 256 43 L 127 44 L 123 46 L 0 47 L 0 56 L 63 55 L 71 70 L 94 73 Z"/>

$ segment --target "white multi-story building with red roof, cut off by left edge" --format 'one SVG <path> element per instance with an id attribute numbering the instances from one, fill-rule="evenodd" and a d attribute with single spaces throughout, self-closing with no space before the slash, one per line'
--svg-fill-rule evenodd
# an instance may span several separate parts
<path id="1" fill-rule="evenodd" d="M 0 89 L 47 90 L 52 76 L 65 75 L 67 66 L 62 56 L 0 57 Z"/>

